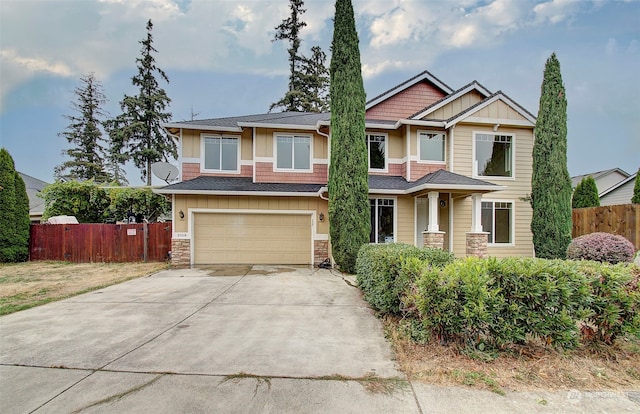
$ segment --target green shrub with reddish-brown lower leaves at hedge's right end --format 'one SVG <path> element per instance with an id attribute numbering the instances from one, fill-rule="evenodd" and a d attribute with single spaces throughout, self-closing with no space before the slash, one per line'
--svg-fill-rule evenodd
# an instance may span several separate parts
<path id="1" fill-rule="evenodd" d="M 581 262 L 592 302 L 581 322 L 586 341 L 612 344 L 617 337 L 640 333 L 640 268 L 626 263 Z"/>

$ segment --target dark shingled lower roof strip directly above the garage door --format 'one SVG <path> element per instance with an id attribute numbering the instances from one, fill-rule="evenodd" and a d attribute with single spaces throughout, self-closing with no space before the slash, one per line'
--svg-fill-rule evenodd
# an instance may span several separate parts
<path id="1" fill-rule="evenodd" d="M 159 194 L 242 194 L 317 196 L 322 184 L 254 183 L 248 177 L 200 176 L 155 189 Z"/>

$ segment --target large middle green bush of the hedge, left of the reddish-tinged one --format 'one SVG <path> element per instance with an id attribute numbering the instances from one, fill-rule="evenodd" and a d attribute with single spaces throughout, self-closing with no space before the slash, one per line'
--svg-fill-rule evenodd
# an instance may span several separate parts
<path id="1" fill-rule="evenodd" d="M 415 304 L 424 326 L 446 341 L 504 346 L 538 338 L 573 348 L 588 298 L 576 264 L 468 258 L 423 269 L 406 300 Z"/>

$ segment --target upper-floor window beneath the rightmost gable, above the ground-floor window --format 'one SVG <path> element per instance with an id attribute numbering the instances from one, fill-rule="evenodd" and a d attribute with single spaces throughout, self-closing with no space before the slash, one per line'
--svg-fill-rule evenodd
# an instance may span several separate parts
<path id="1" fill-rule="evenodd" d="M 475 134 L 475 173 L 486 177 L 513 177 L 513 137 Z"/>

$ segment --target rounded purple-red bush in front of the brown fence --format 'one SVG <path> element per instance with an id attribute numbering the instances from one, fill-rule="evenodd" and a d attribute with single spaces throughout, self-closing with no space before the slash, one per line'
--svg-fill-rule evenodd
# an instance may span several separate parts
<path id="1" fill-rule="evenodd" d="M 635 247 L 622 236 L 609 233 L 591 233 L 577 237 L 567 248 L 571 260 L 594 260 L 597 262 L 632 262 Z"/>

